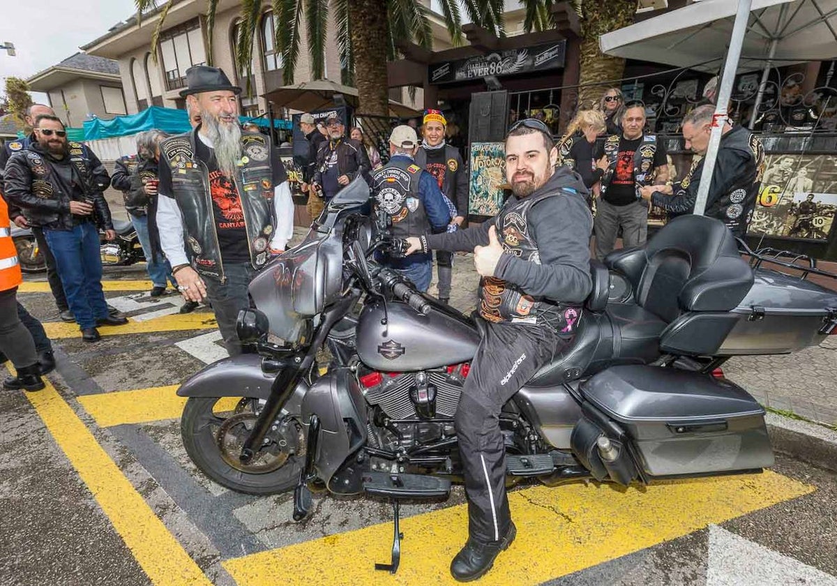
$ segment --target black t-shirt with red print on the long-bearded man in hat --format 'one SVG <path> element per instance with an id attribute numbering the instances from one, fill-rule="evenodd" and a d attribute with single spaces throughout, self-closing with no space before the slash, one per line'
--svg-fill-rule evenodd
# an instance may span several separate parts
<path id="1" fill-rule="evenodd" d="M 209 171 L 209 192 L 212 196 L 212 211 L 215 217 L 215 229 L 218 233 L 218 245 L 221 247 L 221 260 L 226 263 L 249 262 L 250 252 L 247 229 L 244 224 L 244 210 L 241 197 L 235 183 L 218 170 L 215 151 L 198 139 L 195 156 L 205 162 Z M 270 164 L 273 172 L 274 187 L 287 180 L 285 165 L 279 157 L 279 151 L 272 149 Z M 167 165 L 160 165 L 160 193 L 172 196 L 172 172 Z"/>

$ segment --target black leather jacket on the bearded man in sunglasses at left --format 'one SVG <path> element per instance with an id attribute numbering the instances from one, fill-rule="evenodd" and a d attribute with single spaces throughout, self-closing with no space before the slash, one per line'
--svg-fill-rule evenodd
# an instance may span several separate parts
<path id="1" fill-rule="evenodd" d="M 103 193 L 110 185 L 110 175 L 87 146 L 71 141 L 68 148 L 63 159 L 52 157 L 37 143 L 14 153 L 3 170 L 6 197 L 23 210 L 33 226 L 72 229 L 88 218 L 69 213 L 69 203 L 87 201 L 93 204 L 96 224 L 113 229 Z"/>

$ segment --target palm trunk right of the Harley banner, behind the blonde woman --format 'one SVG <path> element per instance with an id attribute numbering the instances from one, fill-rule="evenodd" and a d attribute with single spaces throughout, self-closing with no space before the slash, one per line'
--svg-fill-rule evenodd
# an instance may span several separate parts
<path id="1" fill-rule="evenodd" d="M 627 27 L 634 23 L 636 0 L 583 0 L 583 29 L 581 44 L 581 71 L 578 105 L 589 108 L 598 103 L 608 80 L 619 80 L 624 74 L 625 60 L 611 57 L 598 49 L 598 38 L 604 33 Z M 613 85 L 621 85 L 619 83 Z"/>

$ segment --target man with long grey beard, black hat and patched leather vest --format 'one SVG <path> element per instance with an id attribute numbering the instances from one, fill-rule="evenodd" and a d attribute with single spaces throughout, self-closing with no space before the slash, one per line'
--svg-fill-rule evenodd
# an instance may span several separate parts
<path id="1" fill-rule="evenodd" d="M 279 152 L 239 126 L 239 94 L 221 69 L 186 72 L 191 132 L 160 145 L 157 228 L 186 301 L 208 299 L 230 355 L 242 352 L 235 321 L 247 287 L 293 235 L 293 203 Z M 191 261 L 190 261 L 191 258 Z"/>

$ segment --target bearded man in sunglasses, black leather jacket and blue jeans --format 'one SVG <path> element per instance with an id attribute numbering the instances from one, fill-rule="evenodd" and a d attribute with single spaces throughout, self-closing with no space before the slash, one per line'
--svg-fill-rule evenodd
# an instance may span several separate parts
<path id="1" fill-rule="evenodd" d="M 104 191 L 110 176 L 87 146 L 67 141 L 56 116 L 38 116 L 35 138 L 27 151 L 8 161 L 4 183 L 10 201 L 28 220 L 44 229 L 55 257 L 64 293 L 85 342 L 96 342 L 96 326 L 121 326 L 111 316 L 102 292 L 99 229 L 116 238 Z"/>

